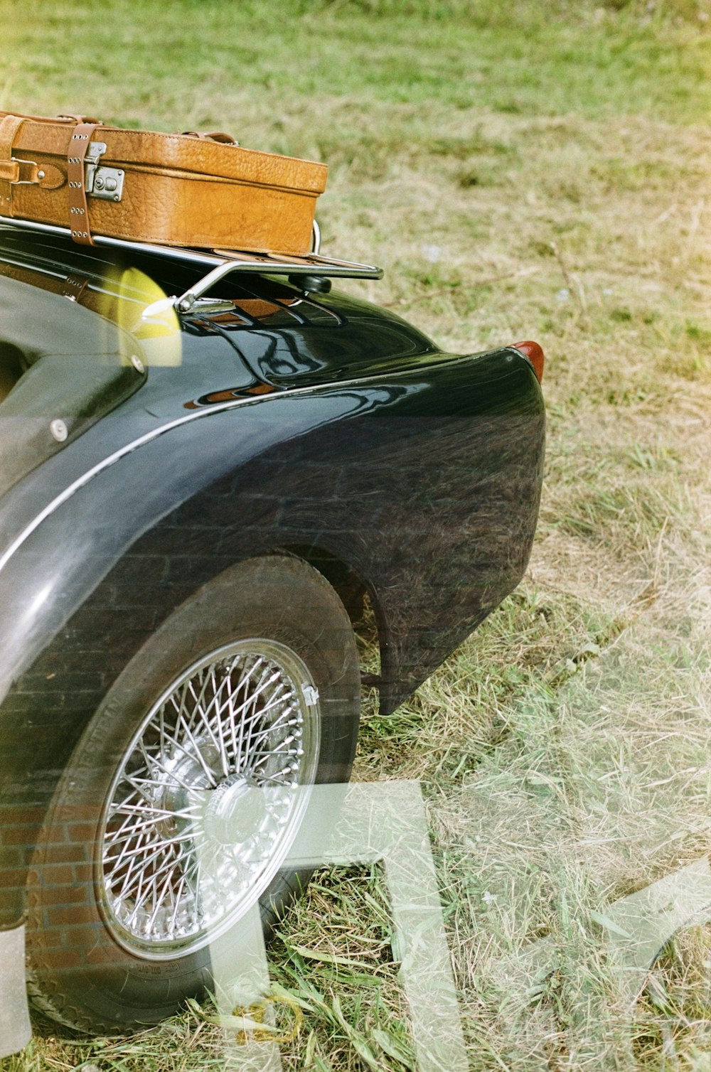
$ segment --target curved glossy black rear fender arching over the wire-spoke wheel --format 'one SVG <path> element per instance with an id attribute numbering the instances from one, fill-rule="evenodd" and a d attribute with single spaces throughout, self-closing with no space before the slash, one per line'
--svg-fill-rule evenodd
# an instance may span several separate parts
<path id="1" fill-rule="evenodd" d="M 379 619 L 382 706 L 395 710 L 522 576 L 543 438 L 525 358 L 443 355 L 377 384 L 198 411 L 62 488 L 15 525 L 0 557 L 3 795 L 23 816 L 18 844 L 31 844 L 125 662 L 241 559 L 307 548 L 362 580 Z M 5 496 L 5 531 L 41 500 L 43 479 L 60 487 L 57 467 L 38 470 Z"/>

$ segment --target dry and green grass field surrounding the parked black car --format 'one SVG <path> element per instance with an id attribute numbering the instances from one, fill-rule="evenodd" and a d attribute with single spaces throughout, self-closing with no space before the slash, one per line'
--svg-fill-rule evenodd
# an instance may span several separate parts
<path id="1" fill-rule="evenodd" d="M 711 1068 L 711 924 L 633 1008 L 605 923 L 710 849 L 710 16 L 0 0 L 0 108 L 323 159 L 325 251 L 386 268 L 353 291 L 453 351 L 546 351 L 529 574 L 394 717 L 366 698 L 354 775 L 421 780 L 475 1072 Z M 269 951 L 303 1015 L 285 1069 L 415 1068 L 389 928 L 380 872 L 319 874 Z M 0 1067 L 223 1068 L 209 1015 L 38 1021 Z"/>

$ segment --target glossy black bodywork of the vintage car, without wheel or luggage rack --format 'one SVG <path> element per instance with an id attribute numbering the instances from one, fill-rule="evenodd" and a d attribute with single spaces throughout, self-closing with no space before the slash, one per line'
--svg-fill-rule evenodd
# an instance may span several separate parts
<path id="1" fill-rule="evenodd" d="M 169 294 L 194 272 L 135 267 Z M 280 551 L 315 565 L 346 609 L 367 592 L 390 713 L 516 586 L 535 531 L 544 406 L 516 348 L 444 354 L 391 313 L 260 277 L 216 288 L 231 311 L 151 334 L 134 330 L 137 292 L 116 314 L 105 281 L 125 269 L 0 228 L 0 353 L 27 355 L 50 306 L 61 352 L 77 339 L 65 369 L 108 385 L 101 405 L 72 408 L 61 359 L 31 366 L 44 440 L 0 498 L 3 792 L 27 817 L 4 863 L 5 920 L 57 772 L 121 668 L 202 584 Z M 66 300 L 83 287 L 108 295 L 112 315 Z M 18 396 L 0 403 L 3 450 Z"/>

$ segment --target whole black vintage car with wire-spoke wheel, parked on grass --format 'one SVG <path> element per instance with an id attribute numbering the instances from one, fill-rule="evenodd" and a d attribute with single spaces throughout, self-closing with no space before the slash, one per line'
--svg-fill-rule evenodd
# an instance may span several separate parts
<path id="1" fill-rule="evenodd" d="M 0 922 L 64 1024 L 158 1022 L 288 900 L 364 601 L 388 714 L 524 572 L 543 353 L 330 289 L 377 274 L 0 226 Z"/>

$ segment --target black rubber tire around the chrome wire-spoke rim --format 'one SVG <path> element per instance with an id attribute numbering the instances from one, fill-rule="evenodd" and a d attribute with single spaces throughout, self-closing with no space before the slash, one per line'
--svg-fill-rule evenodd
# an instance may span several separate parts
<path id="1" fill-rule="evenodd" d="M 250 638 L 283 644 L 306 664 L 320 696 L 313 780 L 349 780 L 360 685 L 340 599 L 297 559 L 236 565 L 182 604 L 127 665 L 84 731 L 47 810 L 28 879 L 29 988 L 38 1008 L 69 1027 L 112 1033 L 155 1024 L 210 985 L 209 946 L 153 961 L 114 939 L 98 904 L 100 817 L 158 697 L 203 654 Z M 307 879 L 277 873 L 261 897 L 266 930 Z M 220 937 L 228 941 L 229 933 Z"/>

